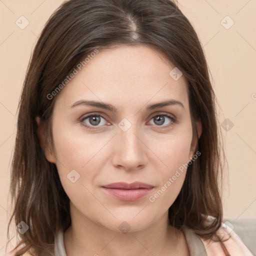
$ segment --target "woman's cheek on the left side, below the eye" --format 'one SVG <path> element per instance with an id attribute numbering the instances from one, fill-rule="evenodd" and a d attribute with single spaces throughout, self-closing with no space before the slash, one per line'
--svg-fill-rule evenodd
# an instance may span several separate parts
<path id="1" fill-rule="evenodd" d="M 67 190 L 70 185 L 72 186 L 68 195 L 71 195 L 74 189 L 78 189 L 78 185 L 88 186 L 90 184 L 91 186 L 99 170 L 105 164 L 107 156 L 104 146 L 109 138 L 107 136 L 99 138 L 99 134 L 85 135 L 73 131 L 69 126 L 60 127 L 56 124 L 53 126 L 53 138 L 60 181 Z M 75 178 L 70 180 L 73 176 Z M 75 186 L 73 186 L 72 181 L 76 179 Z"/>

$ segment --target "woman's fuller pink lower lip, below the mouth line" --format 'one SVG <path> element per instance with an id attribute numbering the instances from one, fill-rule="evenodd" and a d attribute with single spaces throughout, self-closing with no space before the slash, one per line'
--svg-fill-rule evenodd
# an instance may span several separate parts
<path id="1" fill-rule="evenodd" d="M 109 188 L 102 187 L 108 194 L 112 195 L 116 199 L 123 201 L 135 201 L 146 194 L 148 194 L 152 188 L 137 188 L 137 189 L 119 189 L 119 188 Z"/>

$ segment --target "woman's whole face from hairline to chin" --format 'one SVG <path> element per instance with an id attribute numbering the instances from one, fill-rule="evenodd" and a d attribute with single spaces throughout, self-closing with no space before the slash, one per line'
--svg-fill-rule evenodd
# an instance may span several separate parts
<path id="1" fill-rule="evenodd" d="M 71 217 L 115 231 L 141 230 L 167 217 L 196 143 L 186 81 L 173 68 L 147 46 L 99 49 L 58 92 L 55 151 L 45 154 L 56 164 Z M 149 188 L 103 187 L 114 182 Z"/>

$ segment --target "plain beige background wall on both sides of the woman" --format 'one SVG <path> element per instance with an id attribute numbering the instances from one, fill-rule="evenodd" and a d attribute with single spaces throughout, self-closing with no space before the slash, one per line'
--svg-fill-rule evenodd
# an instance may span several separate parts
<path id="1" fill-rule="evenodd" d="M 10 158 L 25 69 L 38 34 L 61 2 L 0 0 L 0 255 L 6 243 Z M 222 129 L 229 167 L 224 216 L 255 218 L 256 1 L 179 0 L 178 6 L 194 25 L 203 45 L 221 107 L 219 121 L 228 118 L 234 124 L 228 131 Z M 29 21 L 24 29 L 15 23 L 21 15 Z M 226 29 L 224 26 L 232 20 L 234 24 Z"/>

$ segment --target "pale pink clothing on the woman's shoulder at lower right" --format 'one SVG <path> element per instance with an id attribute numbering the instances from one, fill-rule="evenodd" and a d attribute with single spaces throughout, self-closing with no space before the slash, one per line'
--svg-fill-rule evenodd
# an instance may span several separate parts
<path id="1" fill-rule="evenodd" d="M 211 239 L 204 239 L 199 236 L 205 247 L 207 256 L 226 256 L 229 254 L 232 256 L 252 256 L 239 236 L 229 226 L 222 223 L 216 234 L 222 240 L 225 240 L 222 242 L 224 246 L 220 242 L 214 242 Z"/>

